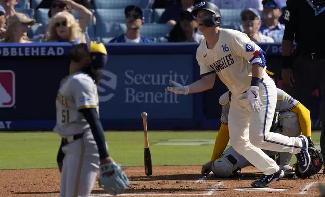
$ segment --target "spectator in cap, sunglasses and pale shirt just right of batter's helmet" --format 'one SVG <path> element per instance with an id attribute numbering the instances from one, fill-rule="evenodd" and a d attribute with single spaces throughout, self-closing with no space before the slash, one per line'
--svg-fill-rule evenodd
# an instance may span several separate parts
<path id="1" fill-rule="evenodd" d="M 273 43 L 274 40 L 266 35 L 261 34 L 261 17 L 256 9 L 247 8 L 240 13 L 244 33 L 254 42 Z"/>

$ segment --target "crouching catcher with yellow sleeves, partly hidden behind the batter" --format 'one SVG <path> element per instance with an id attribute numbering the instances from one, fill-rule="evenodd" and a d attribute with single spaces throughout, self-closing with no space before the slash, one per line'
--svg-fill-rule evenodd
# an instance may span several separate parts
<path id="1" fill-rule="evenodd" d="M 273 132 L 281 133 L 289 137 L 297 137 L 301 133 L 311 142 L 310 112 L 299 101 L 277 88 L 277 105 L 274 115 Z M 202 175 L 208 175 L 211 171 L 220 177 L 228 177 L 238 170 L 251 165 L 242 155 L 238 154 L 233 147 L 225 148 L 229 141 L 228 114 L 231 102 L 231 92 L 224 93 L 219 98 L 222 105 L 220 117 L 221 127 L 215 139 L 211 160 L 202 166 Z M 269 156 L 278 155 L 278 152 L 264 151 Z M 293 171 L 290 166 L 292 154 L 287 152 L 279 153 L 280 168 L 284 175 L 292 177 Z"/>

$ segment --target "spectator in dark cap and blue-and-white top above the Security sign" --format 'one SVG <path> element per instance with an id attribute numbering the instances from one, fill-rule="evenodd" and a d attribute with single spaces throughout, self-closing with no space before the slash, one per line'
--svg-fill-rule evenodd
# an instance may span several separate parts
<path id="1" fill-rule="evenodd" d="M 129 5 L 124 9 L 126 33 L 110 40 L 110 43 L 152 43 L 153 41 L 145 36 L 141 36 L 140 29 L 144 24 L 144 16 L 141 8 Z"/>

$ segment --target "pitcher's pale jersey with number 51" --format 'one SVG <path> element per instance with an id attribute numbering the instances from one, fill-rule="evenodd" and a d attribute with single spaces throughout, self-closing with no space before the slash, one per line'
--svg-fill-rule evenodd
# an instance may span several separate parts
<path id="1" fill-rule="evenodd" d="M 71 74 L 61 81 L 56 99 L 57 124 L 54 131 L 62 137 L 75 135 L 90 128 L 82 108 L 96 108 L 99 100 L 93 79 L 82 72 Z"/>

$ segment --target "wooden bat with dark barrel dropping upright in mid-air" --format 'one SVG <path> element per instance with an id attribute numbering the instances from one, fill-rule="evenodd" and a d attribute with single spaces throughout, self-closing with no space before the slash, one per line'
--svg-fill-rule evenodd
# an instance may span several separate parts
<path id="1" fill-rule="evenodd" d="M 147 176 L 152 175 L 152 161 L 151 161 L 151 152 L 149 147 L 148 139 L 148 129 L 147 129 L 147 116 L 146 112 L 141 114 L 143 121 L 143 131 L 144 131 L 144 172 Z"/>

